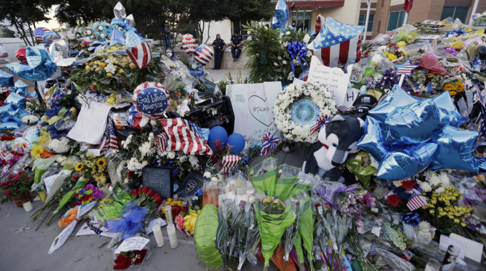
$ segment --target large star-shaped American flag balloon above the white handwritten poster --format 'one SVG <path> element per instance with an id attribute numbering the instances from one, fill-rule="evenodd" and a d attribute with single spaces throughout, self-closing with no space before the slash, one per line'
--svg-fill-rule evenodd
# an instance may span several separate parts
<path id="1" fill-rule="evenodd" d="M 309 50 L 324 66 L 346 67 L 361 59 L 361 32 L 364 26 L 340 23 L 330 17 L 309 45 Z"/>

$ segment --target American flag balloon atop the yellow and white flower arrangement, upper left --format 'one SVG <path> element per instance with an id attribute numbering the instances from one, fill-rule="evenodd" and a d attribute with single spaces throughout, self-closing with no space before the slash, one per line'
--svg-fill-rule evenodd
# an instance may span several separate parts
<path id="1" fill-rule="evenodd" d="M 152 51 L 147 42 L 132 31 L 127 32 L 125 49 L 130 59 L 139 68 L 148 67 L 152 62 Z"/>

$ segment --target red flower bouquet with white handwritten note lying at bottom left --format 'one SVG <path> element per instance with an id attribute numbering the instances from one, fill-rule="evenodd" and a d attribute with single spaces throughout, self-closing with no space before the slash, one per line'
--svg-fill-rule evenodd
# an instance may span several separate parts
<path id="1" fill-rule="evenodd" d="M 122 270 L 140 267 L 152 254 L 154 246 L 154 241 L 144 235 L 123 240 L 113 251 L 115 261 L 113 269 Z"/>

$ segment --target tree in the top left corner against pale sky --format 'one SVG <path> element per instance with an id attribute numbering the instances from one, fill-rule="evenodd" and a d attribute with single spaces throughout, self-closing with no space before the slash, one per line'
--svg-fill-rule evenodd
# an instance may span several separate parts
<path id="1" fill-rule="evenodd" d="M 0 21 L 7 20 L 14 26 L 26 45 L 35 45 L 32 29 L 36 27 L 36 22 L 49 20 L 46 14 L 53 2 L 51 0 L 2 0 Z"/>

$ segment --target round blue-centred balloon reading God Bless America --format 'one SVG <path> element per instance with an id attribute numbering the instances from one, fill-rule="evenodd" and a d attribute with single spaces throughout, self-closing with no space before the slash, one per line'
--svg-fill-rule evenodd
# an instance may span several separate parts
<path id="1" fill-rule="evenodd" d="M 142 114 L 159 119 L 169 105 L 170 94 L 162 84 L 144 82 L 133 91 L 133 104 Z"/>

